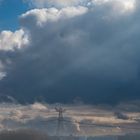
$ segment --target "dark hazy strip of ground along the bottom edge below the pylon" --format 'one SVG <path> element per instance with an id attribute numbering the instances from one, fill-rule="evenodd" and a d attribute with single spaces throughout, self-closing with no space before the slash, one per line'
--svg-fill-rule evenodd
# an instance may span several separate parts
<path id="1" fill-rule="evenodd" d="M 49 137 L 44 133 L 34 130 L 3 131 L 0 140 L 80 140 L 78 137 Z M 118 137 L 90 137 L 87 140 L 140 140 L 140 135 L 128 135 Z M 83 140 L 83 139 L 81 139 Z"/>

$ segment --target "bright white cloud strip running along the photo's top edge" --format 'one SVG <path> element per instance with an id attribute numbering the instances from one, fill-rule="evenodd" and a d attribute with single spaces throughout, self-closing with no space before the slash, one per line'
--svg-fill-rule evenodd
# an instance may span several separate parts
<path id="1" fill-rule="evenodd" d="M 25 0 L 26 1 L 26 0 Z M 44 8 L 44 7 L 68 7 L 68 6 L 86 6 L 94 7 L 96 5 L 111 4 L 114 10 L 122 8 L 121 12 L 133 10 L 136 0 L 29 0 L 30 5 Z"/>

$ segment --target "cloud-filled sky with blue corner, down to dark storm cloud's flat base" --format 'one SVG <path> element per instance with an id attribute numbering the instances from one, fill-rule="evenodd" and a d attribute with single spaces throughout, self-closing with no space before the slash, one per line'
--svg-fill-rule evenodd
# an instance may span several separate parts
<path id="1" fill-rule="evenodd" d="M 140 99 L 139 0 L 0 0 L 0 96 Z"/>

